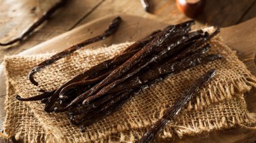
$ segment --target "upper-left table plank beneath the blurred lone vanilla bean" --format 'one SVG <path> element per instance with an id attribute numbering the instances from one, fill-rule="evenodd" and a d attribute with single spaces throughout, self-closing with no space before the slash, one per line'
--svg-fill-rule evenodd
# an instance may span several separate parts
<path id="1" fill-rule="evenodd" d="M 30 37 L 28 37 L 28 39 L 9 48 L 0 47 L 0 62 L 2 61 L 2 58 L 4 55 L 14 55 L 14 54 L 20 53 L 23 50 L 27 50 L 28 48 L 31 48 L 41 42 L 47 41 L 52 37 L 55 37 L 59 34 L 62 34 L 68 31 L 68 29 L 72 28 L 72 26 L 75 25 L 75 23 L 78 20 L 80 20 L 80 18 L 82 18 L 84 15 L 91 12 L 91 10 L 94 9 L 94 7 L 96 7 L 97 4 L 99 4 L 99 2 L 101 1 L 104 1 L 104 0 L 68 1 L 64 7 L 59 9 L 56 12 L 56 14 L 54 14 L 52 18 L 49 21 L 47 21 L 47 23 L 41 26 L 41 28 L 35 33 L 33 33 Z M 39 13 L 36 13 L 36 15 L 30 14 L 30 9 L 32 9 L 35 6 L 36 6 L 36 3 L 35 2 L 33 3 L 31 0 L 2 1 L 0 5 L 0 9 L 3 8 L 4 10 L 0 12 L 1 33 L 2 33 L 2 29 L 4 29 L 4 31 L 6 31 L 5 33 L 9 33 L 10 35 L 12 35 L 9 37 L 9 39 L 16 37 L 16 35 L 19 34 L 20 31 L 22 31 L 22 29 L 24 29 L 26 26 L 31 24 L 31 21 L 35 20 L 41 15 L 42 11 L 40 11 Z M 46 9 L 46 6 L 41 6 L 41 7 L 44 7 L 44 9 Z M 17 13 L 15 13 L 15 16 L 10 17 L 10 13 L 12 12 L 12 9 L 15 9 L 15 12 Z M 23 14 L 23 12 L 25 13 Z M 31 18 L 29 18 L 29 20 L 25 18 L 25 17 L 28 17 L 28 15 L 31 15 Z M 4 23 L 2 23 L 2 21 L 4 21 Z M 23 21 L 26 21 L 25 25 L 22 24 L 22 26 L 19 27 L 19 25 L 21 25 L 20 23 L 23 23 Z M 6 27 L 9 27 L 9 28 L 6 28 Z M 19 30 L 18 29 L 16 30 L 16 27 L 19 27 Z M 4 35 L 6 34 L 3 34 L 3 36 Z M 8 37 L 4 36 L 0 38 L 0 41 L 5 41 L 5 39 L 8 39 Z"/>

